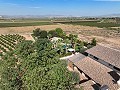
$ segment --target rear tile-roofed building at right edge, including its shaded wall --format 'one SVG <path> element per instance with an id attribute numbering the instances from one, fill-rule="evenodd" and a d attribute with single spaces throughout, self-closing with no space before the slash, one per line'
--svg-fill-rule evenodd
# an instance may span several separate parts
<path id="1" fill-rule="evenodd" d="M 120 51 L 97 45 L 86 51 L 89 57 L 120 73 Z"/>

